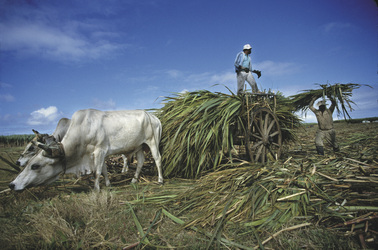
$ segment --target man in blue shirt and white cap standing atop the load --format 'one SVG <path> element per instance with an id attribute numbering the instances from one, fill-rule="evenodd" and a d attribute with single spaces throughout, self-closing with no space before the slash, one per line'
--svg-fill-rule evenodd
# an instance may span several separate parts
<path id="1" fill-rule="evenodd" d="M 244 83 L 247 81 L 252 88 L 252 93 L 259 93 L 259 89 L 257 88 L 256 80 L 253 77 L 252 73 L 257 74 L 258 78 L 261 76 L 261 71 L 259 70 L 252 70 L 252 63 L 251 54 L 252 47 L 249 44 L 244 45 L 243 51 L 239 52 L 236 55 L 235 59 L 235 72 L 238 84 L 238 95 L 243 92 Z"/>

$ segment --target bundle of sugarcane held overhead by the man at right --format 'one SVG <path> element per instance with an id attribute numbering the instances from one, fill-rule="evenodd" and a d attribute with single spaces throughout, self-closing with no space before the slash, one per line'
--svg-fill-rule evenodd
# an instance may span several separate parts
<path id="1" fill-rule="evenodd" d="M 352 97 L 352 91 L 360 88 L 361 86 L 368 86 L 364 84 L 348 83 L 348 84 L 316 84 L 319 89 L 308 89 L 302 90 L 302 93 L 290 96 L 292 104 L 296 111 L 307 112 L 310 102 L 314 99 L 327 98 L 334 100 L 336 102 L 336 109 L 338 115 L 343 114 L 344 119 L 350 118 L 348 113 L 353 111 L 352 104 L 355 103 L 350 99 Z"/>

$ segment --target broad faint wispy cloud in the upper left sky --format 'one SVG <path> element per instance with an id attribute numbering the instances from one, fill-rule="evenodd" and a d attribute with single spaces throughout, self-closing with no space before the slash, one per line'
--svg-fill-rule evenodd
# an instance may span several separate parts
<path id="1" fill-rule="evenodd" d="M 98 29 L 101 27 L 91 28 L 94 30 L 83 32 L 79 27 L 63 29 L 61 26 L 33 21 L 9 21 L 0 24 L 2 50 L 18 55 L 39 55 L 50 60 L 72 62 L 99 59 L 127 47 L 107 40 L 109 33 L 101 33 L 99 38 Z"/>

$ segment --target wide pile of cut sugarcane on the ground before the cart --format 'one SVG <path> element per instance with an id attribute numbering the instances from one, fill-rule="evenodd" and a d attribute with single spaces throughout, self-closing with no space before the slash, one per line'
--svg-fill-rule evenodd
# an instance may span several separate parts
<path id="1" fill-rule="evenodd" d="M 371 176 L 364 176 L 361 168 Z M 335 228 L 378 211 L 377 174 L 376 166 L 334 157 L 301 164 L 244 162 L 202 177 L 178 200 L 183 212 L 196 215 L 188 227 L 234 223 L 260 236 L 288 223 L 311 221 Z"/>

